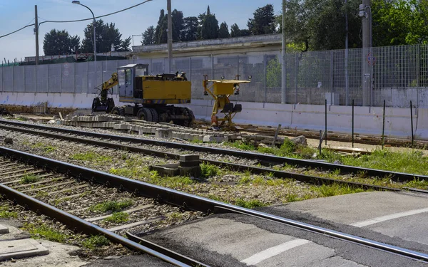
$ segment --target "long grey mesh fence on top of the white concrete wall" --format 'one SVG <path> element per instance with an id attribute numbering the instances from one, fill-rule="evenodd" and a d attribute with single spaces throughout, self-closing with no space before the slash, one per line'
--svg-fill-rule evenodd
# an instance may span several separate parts
<path id="1" fill-rule="evenodd" d="M 323 105 L 428 107 L 428 46 L 387 46 L 335 51 L 287 53 L 286 103 Z M 96 86 L 116 68 L 129 63 L 149 64 L 151 74 L 164 73 L 168 58 L 61 63 L 0 68 L 0 92 L 96 93 Z M 248 53 L 240 56 L 173 58 L 174 72 L 184 71 L 192 81 L 193 99 L 203 95 L 203 75 L 210 79 L 247 79 L 232 100 L 280 103 L 281 56 Z M 117 91 L 115 91 L 117 93 Z M 365 96 L 366 95 L 366 96 Z"/>

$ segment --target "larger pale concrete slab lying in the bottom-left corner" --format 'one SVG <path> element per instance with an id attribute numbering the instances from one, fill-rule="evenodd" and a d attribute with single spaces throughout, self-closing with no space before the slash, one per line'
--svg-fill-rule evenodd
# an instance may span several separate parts
<path id="1" fill-rule="evenodd" d="M 0 241 L 0 261 L 41 256 L 48 253 L 49 250 L 34 239 Z"/>

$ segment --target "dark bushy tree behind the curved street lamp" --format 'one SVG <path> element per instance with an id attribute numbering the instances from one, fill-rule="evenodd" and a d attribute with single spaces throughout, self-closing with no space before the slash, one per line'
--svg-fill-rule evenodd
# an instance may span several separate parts
<path id="1" fill-rule="evenodd" d="M 93 23 L 88 24 L 83 33 L 82 52 L 93 53 Z M 102 19 L 96 21 L 96 52 L 106 53 L 111 51 L 112 45 L 115 51 L 131 51 L 131 37 L 121 40 L 122 34 L 116 28 L 115 23 L 104 23 Z"/>

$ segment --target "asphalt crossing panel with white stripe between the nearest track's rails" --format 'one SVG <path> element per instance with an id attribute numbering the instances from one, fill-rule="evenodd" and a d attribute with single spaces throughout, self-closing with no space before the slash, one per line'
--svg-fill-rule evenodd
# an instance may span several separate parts
<path id="1" fill-rule="evenodd" d="M 231 219 L 196 221 L 162 231 L 161 236 L 183 246 L 231 256 L 243 266 L 330 266 L 332 258 L 335 266 L 362 266 L 337 257 L 335 249 L 310 240 L 275 234 Z"/>

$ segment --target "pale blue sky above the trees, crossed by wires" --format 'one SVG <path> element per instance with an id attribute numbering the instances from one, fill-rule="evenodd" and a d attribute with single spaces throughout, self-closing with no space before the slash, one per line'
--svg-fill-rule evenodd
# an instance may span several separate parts
<path id="1" fill-rule="evenodd" d="M 141 3 L 143 0 L 81 0 L 92 9 L 95 16 L 101 16 L 113 11 L 125 9 L 128 6 Z M 198 16 L 206 11 L 210 5 L 211 13 L 215 14 L 219 23 L 226 21 L 229 29 L 233 23 L 238 23 L 240 28 L 246 28 L 247 21 L 253 16 L 253 12 L 265 4 L 273 4 L 275 14 L 280 13 L 282 0 L 172 0 L 172 8 L 183 11 L 184 16 Z M 39 22 L 44 20 L 75 20 L 91 17 L 91 12 L 83 6 L 71 4 L 71 0 L 0 0 L 0 36 L 15 31 L 22 26 L 34 23 L 34 5 L 38 7 Z M 116 23 L 116 27 L 122 33 L 122 37 L 141 34 L 148 26 L 156 26 L 159 12 L 166 10 L 166 0 L 153 0 L 128 11 L 103 18 L 108 23 Z M 83 28 L 87 21 L 75 23 L 44 23 L 39 28 L 40 56 L 44 55 L 43 40 L 46 32 L 52 28 L 66 30 L 71 35 L 83 36 Z M 141 36 L 134 36 L 134 44 L 138 45 Z M 0 38 L 0 58 L 13 61 L 24 60 L 25 56 L 34 56 L 36 53 L 33 27 L 11 36 Z"/>

